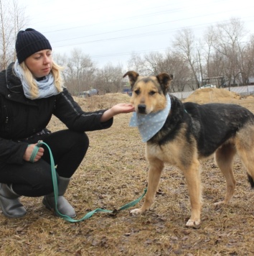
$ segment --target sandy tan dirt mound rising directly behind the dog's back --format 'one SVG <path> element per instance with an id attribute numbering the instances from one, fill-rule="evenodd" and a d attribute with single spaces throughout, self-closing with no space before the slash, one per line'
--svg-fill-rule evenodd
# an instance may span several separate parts
<path id="1" fill-rule="evenodd" d="M 239 94 L 232 91 L 227 91 L 223 88 L 204 88 L 194 91 L 184 102 L 192 101 L 198 104 L 210 103 L 210 102 L 232 102 L 239 100 L 241 97 Z"/>

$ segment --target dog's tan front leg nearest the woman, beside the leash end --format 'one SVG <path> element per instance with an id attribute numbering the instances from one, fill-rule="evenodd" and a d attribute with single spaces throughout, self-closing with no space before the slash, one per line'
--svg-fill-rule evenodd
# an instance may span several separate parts
<path id="1" fill-rule="evenodd" d="M 155 194 L 159 186 L 159 180 L 161 178 L 161 173 L 164 168 L 164 163 L 161 160 L 149 161 L 149 178 L 148 178 L 148 188 L 146 193 L 146 198 L 143 206 L 139 209 L 131 210 L 131 214 L 138 215 L 143 214 L 146 210 L 150 209 L 151 204 L 154 203 Z"/>

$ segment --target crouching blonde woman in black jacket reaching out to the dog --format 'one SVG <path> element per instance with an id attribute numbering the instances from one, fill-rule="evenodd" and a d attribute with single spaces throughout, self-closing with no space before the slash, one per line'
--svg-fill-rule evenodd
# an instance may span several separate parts
<path id="1" fill-rule="evenodd" d="M 52 60 L 50 42 L 34 29 L 19 31 L 16 52 L 17 61 L 0 73 L 1 210 L 7 217 L 22 217 L 27 211 L 20 196 L 44 196 L 44 206 L 57 215 L 50 154 L 42 145 L 30 160 L 38 140 L 42 140 L 57 165 L 57 209 L 74 217 L 75 210 L 63 195 L 88 150 L 85 132 L 107 129 L 113 116 L 129 113 L 133 106 L 117 104 L 108 110 L 82 111 L 62 85 L 61 68 Z M 52 114 L 67 129 L 47 130 Z"/>

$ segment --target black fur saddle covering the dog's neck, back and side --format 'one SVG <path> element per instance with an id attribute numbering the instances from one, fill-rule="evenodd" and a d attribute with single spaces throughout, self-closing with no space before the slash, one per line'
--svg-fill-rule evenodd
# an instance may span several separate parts
<path id="1" fill-rule="evenodd" d="M 209 157 L 237 132 L 250 132 L 254 125 L 254 114 L 236 104 L 183 104 L 171 95 L 170 99 L 169 116 L 161 131 L 151 138 L 151 143 L 164 145 L 182 133 L 187 139 L 194 137 L 199 158 Z"/>

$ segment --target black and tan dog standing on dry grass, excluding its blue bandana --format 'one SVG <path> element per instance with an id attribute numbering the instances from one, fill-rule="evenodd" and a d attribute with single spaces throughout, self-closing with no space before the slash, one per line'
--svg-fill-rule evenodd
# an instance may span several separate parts
<path id="1" fill-rule="evenodd" d="M 166 121 L 146 142 L 148 188 L 144 204 L 140 209 L 131 210 L 132 215 L 143 214 L 154 203 L 164 163 L 177 166 L 187 180 L 191 204 L 187 227 L 200 224 L 200 160 L 215 155 L 217 166 L 225 176 L 225 198 L 216 204 L 228 204 L 233 196 L 236 181 L 232 163 L 235 154 L 240 157 L 250 186 L 254 188 L 254 114 L 251 111 L 237 104 L 182 103 L 168 93 L 173 76 L 167 73 L 139 76 L 135 71 L 128 71 L 123 78 L 126 76 L 131 84 L 131 103 L 135 106 L 136 115 L 160 113 L 167 106 L 166 97 L 170 99 L 170 109 L 164 118 Z"/>

